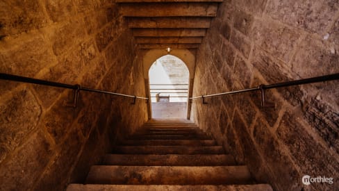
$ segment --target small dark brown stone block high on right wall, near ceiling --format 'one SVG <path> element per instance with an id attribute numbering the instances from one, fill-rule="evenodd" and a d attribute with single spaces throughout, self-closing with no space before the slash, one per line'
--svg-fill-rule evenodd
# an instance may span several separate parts
<path id="1" fill-rule="evenodd" d="M 249 35 L 251 27 L 254 23 L 254 17 L 242 10 L 235 10 L 233 26 L 238 29 L 242 34 Z"/>

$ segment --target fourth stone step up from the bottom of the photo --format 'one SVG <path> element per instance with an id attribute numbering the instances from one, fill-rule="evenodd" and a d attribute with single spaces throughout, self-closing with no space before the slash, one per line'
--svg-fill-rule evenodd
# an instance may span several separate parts
<path id="1" fill-rule="evenodd" d="M 124 154 L 224 154 L 222 146 L 117 146 L 113 153 Z"/>

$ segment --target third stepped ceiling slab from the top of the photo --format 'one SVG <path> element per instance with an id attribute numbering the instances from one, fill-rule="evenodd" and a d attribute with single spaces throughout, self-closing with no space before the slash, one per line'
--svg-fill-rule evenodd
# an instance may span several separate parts
<path id="1" fill-rule="evenodd" d="M 205 28 L 133 28 L 135 37 L 203 37 Z"/>

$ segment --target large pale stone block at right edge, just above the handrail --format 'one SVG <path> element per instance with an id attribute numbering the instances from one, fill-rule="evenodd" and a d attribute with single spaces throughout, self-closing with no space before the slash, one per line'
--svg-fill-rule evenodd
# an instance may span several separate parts
<path id="1" fill-rule="evenodd" d="M 290 67 L 301 78 L 311 78 L 338 73 L 338 60 L 339 52 L 332 51 L 328 44 L 308 36 L 301 43 Z"/>

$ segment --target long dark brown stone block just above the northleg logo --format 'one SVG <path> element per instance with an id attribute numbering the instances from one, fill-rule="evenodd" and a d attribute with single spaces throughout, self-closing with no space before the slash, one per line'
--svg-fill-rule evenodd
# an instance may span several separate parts
<path id="1" fill-rule="evenodd" d="M 313 177 L 338 177 L 339 165 L 333 163 L 336 159 L 326 148 L 322 147 L 320 140 L 315 139 L 306 131 L 306 128 L 309 127 L 301 124 L 300 119 L 299 115 L 288 110 L 283 115 L 281 124 L 276 131 L 279 140 L 288 147 L 302 174 Z M 301 178 L 299 178 L 299 184 L 302 184 Z M 333 190 L 336 188 L 336 183 L 332 185 L 314 184 L 314 186 L 317 190 Z"/>

